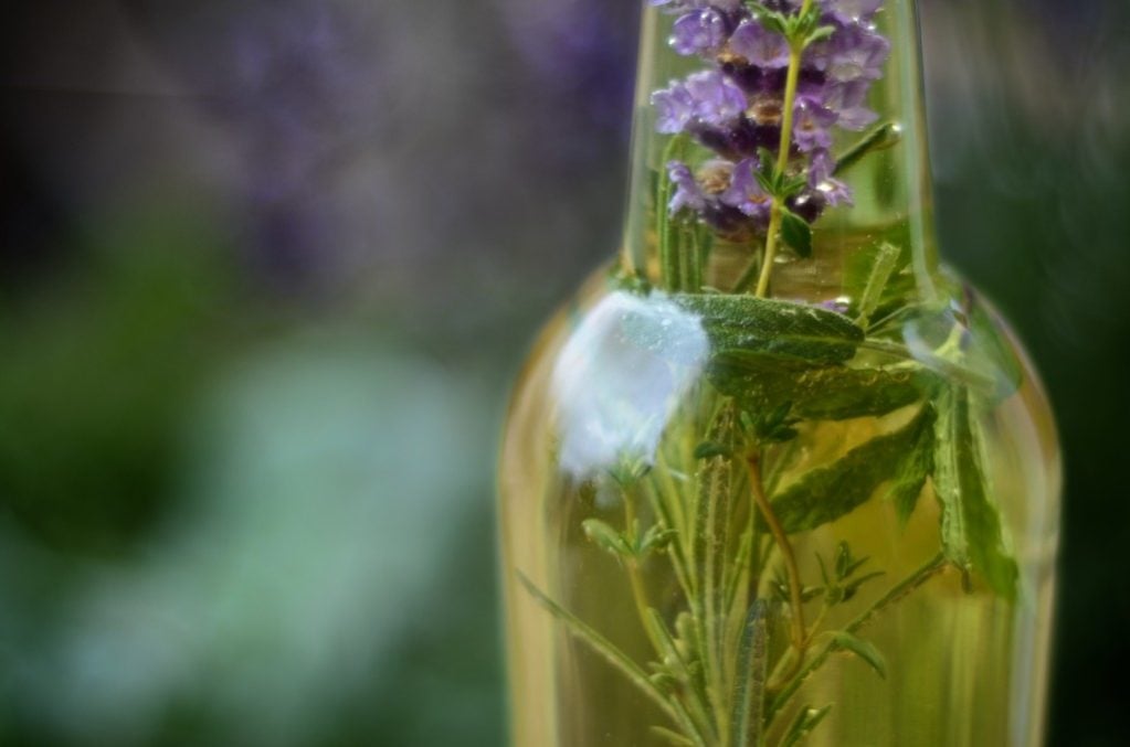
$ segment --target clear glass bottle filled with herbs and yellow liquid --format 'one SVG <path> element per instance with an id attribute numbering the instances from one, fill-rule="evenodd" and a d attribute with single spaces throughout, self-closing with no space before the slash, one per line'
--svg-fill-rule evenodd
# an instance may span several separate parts
<path id="1" fill-rule="evenodd" d="M 939 264 L 913 0 L 660 5 L 504 434 L 513 742 L 1040 745 L 1054 423 Z"/>

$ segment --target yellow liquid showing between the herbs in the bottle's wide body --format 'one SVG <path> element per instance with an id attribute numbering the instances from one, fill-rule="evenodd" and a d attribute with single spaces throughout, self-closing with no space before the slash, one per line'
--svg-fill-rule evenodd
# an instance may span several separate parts
<path id="1" fill-rule="evenodd" d="M 501 466 L 502 563 L 507 608 L 507 649 L 512 737 L 518 747 L 617 747 L 670 745 L 654 727 L 678 732 L 655 703 L 619 670 L 571 634 L 568 626 L 538 604 L 519 581 L 522 574 L 570 614 L 599 632 L 646 669 L 655 653 L 649 641 L 625 565 L 586 536 L 582 522 L 600 519 L 617 530 L 626 526 L 623 494 L 599 469 L 584 474 L 577 463 L 607 462 L 608 443 L 652 449 L 652 471 L 644 489 L 679 491 L 693 485 L 701 467 L 693 449 L 705 438 L 712 402 L 701 380 L 664 379 L 618 337 L 582 341 L 608 292 L 593 283 L 582 300 L 547 328 L 523 372 L 512 405 Z M 588 351 L 588 352 L 584 352 Z M 592 359 L 596 358 L 594 362 Z M 617 370 L 617 369 L 625 370 Z M 573 380 L 563 388 L 563 376 Z M 635 378 L 633 378 L 635 377 Z M 677 379 L 678 377 L 675 377 Z M 632 395 L 627 415 L 577 415 L 580 398 L 608 406 L 632 392 L 629 384 L 660 394 Z M 904 597 L 885 605 L 858 631 L 886 663 L 886 678 L 861 658 L 833 653 L 803 680 L 760 736 L 760 744 L 782 744 L 800 709 L 831 711 L 799 744 L 819 746 L 998 747 L 1042 744 L 1048 676 L 1053 563 L 1058 536 L 1059 463 L 1054 427 L 1031 372 L 1025 383 L 991 411 L 976 411 L 984 433 L 985 465 L 992 500 L 999 507 L 1010 550 L 1019 566 L 1015 600 L 994 595 L 974 575 L 953 568 L 932 574 Z M 667 387 L 666 389 L 663 387 Z M 566 397 L 565 395 L 568 395 Z M 653 412 L 651 420 L 638 415 Z M 829 464 L 913 415 L 914 407 L 884 418 L 860 418 L 802 427 L 791 456 L 781 456 L 776 480 Z M 605 420 L 601 420 L 605 418 Z M 658 424 L 657 421 L 658 420 Z M 625 424 L 627 423 L 627 424 Z M 616 425 L 631 436 L 609 432 Z M 658 440 L 657 440 L 658 439 Z M 733 545 L 751 510 L 740 480 L 730 501 Z M 642 528 L 655 521 L 649 502 L 638 499 Z M 806 605 L 807 624 L 819 631 L 842 630 L 889 589 L 936 557 L 941 547 L 939 509 L 928 483 L 918 508 L 902 526 L 890 502 L 872 498 L 843 518 L 791 542 L 800 574 L 818 585 L 817 553 L 827 561 L 846 542 L 855 556 L 868 556 L 864 572 L 883 575 L 861 587 L 850 601 L 832 607 L 817 621 L 817 598 Z M 765 538 L 762 547 L 771 548 Z M 751 559 L 753 590 L 768 595 L 779 574 L 779 553 L 764 562 Z M 669 629 L 687 609 L 666 553 L 653 553 L 640 568 L 641 591 Z M 738 610 L 722 644 L 720 669 L 732 677 L 736 640 L 744 609 Z M 770 669 L 789 648 L 789 613 L 768 627 Z M 811 651 L 827 640 L 817 635 Z M 810 652 L 811 653 L 811 652 Z M 729 680 L 728 680 L 729 682 Z M 723 691 L 728 689 L 722 688 Z M 721 692 L 721 691 L 720 691 Z M 723 717 L 724 718 L 724 717 Z M 707 747 L 732 744 L 706 738 Z"/>

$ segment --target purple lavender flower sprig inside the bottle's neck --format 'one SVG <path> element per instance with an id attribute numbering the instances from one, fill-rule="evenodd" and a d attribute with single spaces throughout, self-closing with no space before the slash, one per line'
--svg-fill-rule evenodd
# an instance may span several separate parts
<path id="1" fill-rule="evenodd" d="M 764 240 L 764 296 L 780 239 L 807 255 L 811 223 L 852 204 L 831 147 L 836 129 L 858 132 L 878 118 L 866 102 L 890 54 L 873 25 L 883 0 L 651 5 L 677 16 L 675 52 L 707 65 L 652 95 L 659 132 L 689 135 L 714 153 L 695 166 L 666 165 L 668 214 L 730 240 Z"/>

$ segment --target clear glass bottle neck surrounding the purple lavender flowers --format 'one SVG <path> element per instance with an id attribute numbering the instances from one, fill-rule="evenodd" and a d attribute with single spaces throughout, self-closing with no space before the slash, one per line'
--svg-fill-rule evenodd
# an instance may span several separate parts
<path id="1" fill-rule="evenodd" d="M 773 7 L 772 3 L 766 5 Z M 786 3 L 777 5 L 788 8 Z M 846 201 L 828 204 L 811 220 L 810 252 L 798 252 L 786 245 L 785 232 L 768 217 L 771 211 L 765 211 L 765 216 L 760 218 L 762 223 L 767 226 L 755 226 L 747 221 L 755 227 L 733 229 L 724 220 L 714 220 L 712 223 L 713 219 L 709 216 L 711 208 L 695 212 L 695 206 L 675 205 L 679 211 L 671 210 L 671 200 L 678 192 L 668 168 L 672 160 L 686 164 L 688 173 L 694 175 L 694 190 L 711 199 L 711 194 L 720 194 L 720 190 L 727 186 L 721 184 L 712 188 L 712 181 L 716 179 L 716 175 L 712 176 L 711 169 L 718 170 L 721 162 L 724 167 L 722 170 L 729 170 L 729 176 L 724 176 L 723 182 L 729 179 L 732 188 L 736 178 L 733 165 L 742 165 L 744 159 L 756 150 L 750 148 L 742 153 L 723 148 L 720 153 L 716 132 L 712 134 L 711 126 L 693 118 L 684 131 L 670 132 L 673 129 L 667 121 L 670 112 L 663 109 L 655 93 L 675 90 L 679 81 L 688 81 L 696 74 L 721 73 L 725 77 L 727 85 L 729 81 L 737 81 L 745 87 L 748 105 L 746 113 L 738 120 L 740 124 L 727 126 L 747 126 L 751 117 L 758 117 L 759 94 L 740 80 L 742 76 L 749 77 L 749 65 L 733 50 L 744 52 L 747 47 L 739 46 L 734 37 L 731 36 L 729 42 L 706 53 L 679 54 L 672 49 L 672 38 L 676 36 L 676 24 L 681 21 L 683 15 L 660 12 L 650 7 L 650 3 L 647 6 L 643 15 L 628 211 L 624 230 L 625 270 L 668 290 L 755 292 L 757 283 L 750 282 L 749 275 L 762 274 L 760 271 L 751 272 L 756 270 L 753 265 L 762 263 L 764 267 L 766 264 L 766 243 L 771 232 L 768 229 L 772 229 L 777 240 L 771 244 L 780 244 L 781 248 L 774 253 L 776 247 L 770 247 L 771 270 L 763 295 L 810 302 L 843 299 L 852 292 L 850 278 L 858 270 L 862 261 L 860 257 L 873 254 L 879 247 L 893 247 L 901 257 L 899 272 L 914 278 L 920 296 L 932 297 L 938 256 L 923 108 L 921 45 L 914 0 L 884 0 L 879 11 L 867 19 L 866 24 L 861 24 L 868 33 L 889 43 L 889 54 L 884 55 L 881 68 L 868 76 L 867 97 L 861 104 L 877 116 L 866 126 L 852 122 L 850 128 L 827 128 L 827 135 L 831 138 L 827 151 L 835 159 L 836 167 L 842 169 L 835 173 L 833 182 L 842 182 L 849 188 L 850 204 Z M 730 10 L 727 10 L 727 6 Z M 742 18 L 750 23 L 748 15 L 741 15 L 742 10 L 732 10 L 734 7 L 741 8 L 734 0 L 719 0 L 716 7 L 721 8 L 720 14 L 728 24 L 724 34 L 732 35 Z M 822 23 L 834 23 L 829 18 L 825 16 Z M 757 21 L 756 18 L 753 20 Z M 833 41 L 841 47 L 844 46 L 840 37 Z M 815 59 L 815 53 L 808 51 L 803 58 L 798 55 L 798 60 L 805 60 L 798 65 L 801 68 L 798 76 L 801 91 L 806 78 L 820 76 L 820 80 L 824 79 L 823 72 L 814 73 L 803 68 L 809 64 L 809 54 L 814 54 Z M 738 59 L 739 67 L 745 68 L 746 72 L 729 64 L 728 60 L 731 59 Z M 773 74 L 784 80 L 788 72 L 786 69 L 779 69 Z M 764 69 L 755 70 L 754 74 L 768 77 Z M 876 76 L 881 77 L 870 80 Z M 777 104 L 785 98 L 781 94 L 785 88 L 786 86 L 781 85 L 775 91 Z M 796 102 L 803 95 L 801 93 L 790 100 Z M 847 118 L 843 115 L 841 121 L 846 122 Z M 792 124 L 796 128 L 803 126 L 805 123 Z M 770 128 L 765 130 L 771 137 L 764 146 L 759 143 L 760 162 L 770 159 L 771 151 L 776 151 L 777 155 L 780 152 L 773 140 L 773 137 L 780 135 L 775 135 Z M 868 143 L 870 147 L 866 147 Z M 854 159 L 852 153 L 858 152 L 861 147 L 864 147 L 863 155 Z M 673 158 L 675 156 L 678 158 Z M 758 160 L 756 156 L 754 160 Z M 785 158 L 781 162 L 785 162 Z M 792 176 L 798 176 L 798 173 L 803 176 L 811 170 L 806 166 L 812 162 L 811 152 L 801 152 L 797 144 L 792 144 L 788 162 L 788 170 Z M 818 196 L 818 193 L 814 194 Z M 797 197 L 790 200 L 788 205 L 796 213 L 803 213 L 803 204 L 794 205 Z M 803 201 L 802 195 L 800 202 Z M 781 204 L 786 204 L 785 200 L 782 199 Z M 722 205 L 722 209 L 733 212 L 729 205 Z M 748 203 L 741 209 L 756 212 Z M 677 237 L 672 239 L 677 232 L 687 237 L 681 245 Z M 672 261 L 670 256 L 672 245 L 681 247 L 677 248 L 678 252 L 705 257 L 702 265 L 689 274 L 689 280 L 686 274 L 681 275 L 683 280 L 678 283 L 670 280 L 675 272 L 671 267 L 679 264 L 678 258 Z M 684 257 L 681 262 L 685 266 L 688 260 Z M 745 285 L 742 280 L 746 281 Z"/>

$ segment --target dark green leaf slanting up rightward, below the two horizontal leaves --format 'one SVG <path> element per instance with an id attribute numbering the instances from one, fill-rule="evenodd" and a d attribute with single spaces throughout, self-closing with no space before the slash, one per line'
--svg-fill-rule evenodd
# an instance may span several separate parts
<path id="1" fill-rule="evenodd" d="M 930 448 L 933 420 L 933 410 L 923 407 L 903 428 L 807 473 L 776 495 L 773 509 L 784 530 L 793 534 L 815 529 L 862 506 L 884 483 L 897 477 L 916 451 Z"/>

